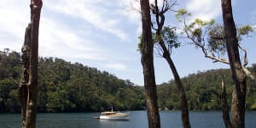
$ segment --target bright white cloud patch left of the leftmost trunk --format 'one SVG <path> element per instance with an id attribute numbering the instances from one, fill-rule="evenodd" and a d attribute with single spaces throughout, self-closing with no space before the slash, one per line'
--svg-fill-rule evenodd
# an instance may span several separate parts
<path id="1" fill-rule="evenodd" d="M 0 46 L 20 51 L 29 19 L 29 2 L 2 0 L 0 5 Z M 25 9 L 26 8 L 26 9 Z"/>

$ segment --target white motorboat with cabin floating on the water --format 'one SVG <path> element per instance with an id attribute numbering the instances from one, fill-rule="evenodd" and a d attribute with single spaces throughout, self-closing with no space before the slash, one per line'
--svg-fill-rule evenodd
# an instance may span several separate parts
<path id="1" fill-rule="evenodd" d="M 129 120 L 129 113 L 120 113 L 113 111 L 102 112 L 99 119 L 108 119 L 108 120 Z"/>

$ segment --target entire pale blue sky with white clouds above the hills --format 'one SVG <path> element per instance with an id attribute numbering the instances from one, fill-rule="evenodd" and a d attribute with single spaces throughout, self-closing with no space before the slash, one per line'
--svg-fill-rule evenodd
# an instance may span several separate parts
<path id="1" fill-rule="evenodd" d="M 30 21 L 30 1 L 0 0 L 0 3 L 0 50 L 9 48 L 20 52 Z M 137 37 L 142 33 L 138 0 L 44 0 L 43 3 L 40 56 L 79 62 L 143 85 L 141 54 L 137 51 Z M 249 24 L 256 28 L 255 4 L 255 0 L 232 1 L 237 26 Z M 220 0 L 177 0 L 175 9 L 188 9 L 192 18 L 223 22 Z M 166 25 L 180 26 L 174 13 L 166 14 Z M 255 37 L 253 32 L 242 44 L 247 49 L 248 66 L 256 63 Z M 191 45 L 173 49 L 172 60 L 180 77 L 229 68 L 222 63 L 212 63 Z M 154 70 L 157 84 L 173 79 L 166 61 L 158 55 L 154 55 Z"/>

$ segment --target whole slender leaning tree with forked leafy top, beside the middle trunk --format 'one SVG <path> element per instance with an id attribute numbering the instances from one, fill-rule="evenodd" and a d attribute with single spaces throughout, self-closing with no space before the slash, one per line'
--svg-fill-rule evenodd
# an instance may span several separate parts
<path id="1" fill-rule="evenodd" d="M 164 0 L 162 3 L 162 7 L 158 7 L 158 1 L 154 0 L 154 4 L 151 4 L 151 12 L 152 15 L 154 15 L 155 24 L 153 24 L 154 21 L 152 21 L 152 28 L 155 31 L 154 34 L 154 41 L 158 43 L 159 46 L 158 51 L 159 55 L 161 55 L 163 58 L 165 58 L 166 62 L 168 63 L 169 67 L 172 70 L 172 74 L 175 79 L 175 83 L 177 85 L 177 90 L 179 92 L 180 102 L 181 102 L 181 117 L 183 122 L 184 128 L 189 128 L 189 108 L 188 108 L 188 102 L 187 102 L 187 96 L 185 93 L 185 90 L 183 88 L 183 84 L 181 82 L 181 79 L 177 73 L 177 68 L 175 67 L 174 62 L 172 61 L 172 48 L 179 47 L 179 42 L 177 41 L 177 35 L 175 33 L 175 28 L 170 26 L 164 26 L 165 25 L 165 14 L 167 11 L 170 11 L 172 6 L 176 4 L 176 1 L 173 3 L 168 3 L 167 0 Z"/>

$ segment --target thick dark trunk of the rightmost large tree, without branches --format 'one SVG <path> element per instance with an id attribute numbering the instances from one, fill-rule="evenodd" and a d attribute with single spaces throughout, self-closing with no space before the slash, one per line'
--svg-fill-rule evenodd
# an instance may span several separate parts
<path id="1" fill-rule="evenodd" d="M 231 0 L 222 0 L 222 11 L 225 29 L 227 52 L 230 60 L 232 79 L 235 84 L 232 94 L 232 126 L 244 128 L 245 122 L 245 101 L 246 101 L 246 74 L 243 72 L 238 41 L 236 38 L 236 26 L 232 15 Z"/>

